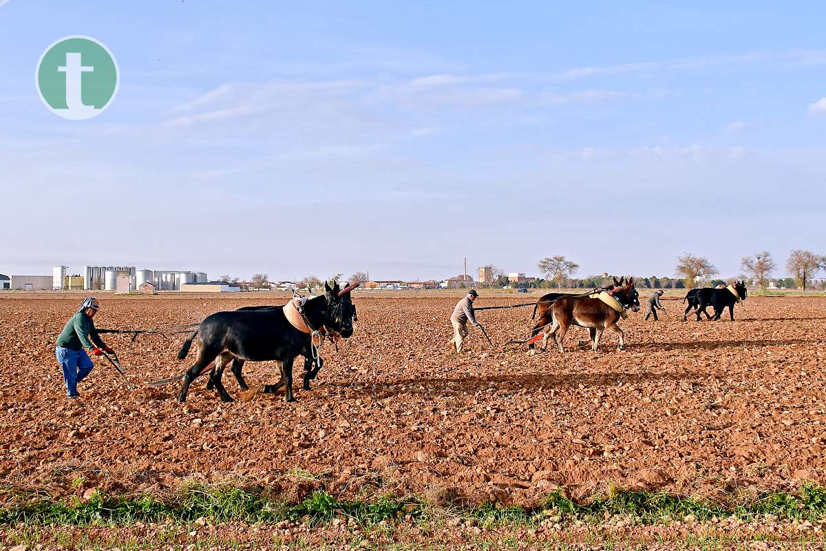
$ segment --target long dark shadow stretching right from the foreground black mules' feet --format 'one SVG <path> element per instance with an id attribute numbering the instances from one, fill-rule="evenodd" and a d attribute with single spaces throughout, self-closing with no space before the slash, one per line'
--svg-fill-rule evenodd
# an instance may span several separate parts
<path id="1" fill-rule="evenodd" d="M 405 394 L 437 397 L 467 396 L 493 389 L 496 392 L 521 392 L 525 390 L 550 390 L 552 388 L 612 387 L 647 381 L 684 381 L 709 378 L 709 373 L 525 373 L 524 375 L 467 375 L 461 378 L 411 378 L 395 382 L 333 383 L 354 392 L 382 400 Z"/>

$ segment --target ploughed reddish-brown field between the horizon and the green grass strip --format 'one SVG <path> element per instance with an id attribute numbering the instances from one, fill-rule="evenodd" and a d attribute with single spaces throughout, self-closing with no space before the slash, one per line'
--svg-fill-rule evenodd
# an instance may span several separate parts
<path id="1" fill-rule="evenodd" d="M 107 297 L 95 321 L 151 328 L 267 303 L 249 297 Z M 0 301 L 0 479 L 53 496 L 165 492 L 196 479 L 295 499 L 324 487 L 522 505 L 555 487 L 576 498 L 610 484 L 714 497 L 826 483 L 822 298 L 749 298 L 733 323 L 678 321 L 680 304 L 666 302 L 670 319 L 621 322 L 622 352 L 606 333 L 599 354 L 534 357 L 491 350 L 476 330 L 469 352 L 449 354 L 455 297 L 355 301 L 354 337 L 338 353 L 325 345 L 314 390 L 297 380 L 292 404 L 241 401 L 230 373 L 238 401 L 222 403 L 203 379 L 179 404 L 176 383 L 129 392 L 98 359 L 69 401 L 54 349 L 77 298 Z M 519 302 L 481 297 L 477 306 Z M 499 344 L 526 335 L 530 310 L 478 317 Z M 572 330 L 568 349 L 586 338 Z M 136 384 L 187 366 L 176 359 L 183 335 L 107 341 Z M 248 363 L 246 373 L 250 385 L 278 379 L 274 363 Z"/>

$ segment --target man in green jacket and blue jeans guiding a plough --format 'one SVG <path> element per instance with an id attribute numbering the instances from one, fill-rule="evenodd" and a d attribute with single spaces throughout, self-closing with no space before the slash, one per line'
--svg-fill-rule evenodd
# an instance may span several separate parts
<path id="1" fill-rule="evenodd" d="M 112 349 L 97 335 L 95 324 L 92 321 L 98 309 L 100 309 L 100 306 L 96 299 L 93 297 L 85 298 L 83 304 L 78 308 L 78 312 L 66 322 L 57 338 L 55 356 L 60 368 L 63 369 L 66 396 L 69 398 L 78 397 L 78 382 L 86 378 L 94 367 L 92 359 L 89 359 L 88 354 L 83 349 L 88 349 L 95 356 L 100 356 L 104 350 L 112 352 Z M 91 342 L 89 337 L 92 338 Z"/>

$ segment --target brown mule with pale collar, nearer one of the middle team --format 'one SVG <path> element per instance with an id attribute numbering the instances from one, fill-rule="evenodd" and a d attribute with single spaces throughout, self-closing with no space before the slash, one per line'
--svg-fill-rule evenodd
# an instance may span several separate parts
<path id="1" fill-rule="evenodd" d="M 621 282 L 622 280 L 620 280 Z M 628 284 L 624 287 L 618 287 L 609 292 L 610 296 L 614 297 L 620 306 L 623 308 L 631 308 L 633 311 L 639 311 L 639 293 L 634 287 L 634 278 L 629 278 Z M 623 349 L 624 340 L 623 332 L 619 329 L 617 321 L 619 321 L 620 313 L 611 306 L 605 304 L 598 298 L 591 297 L 562 297 L 551 306 L 553 312 L 553 326 L 544 330 L 544 337 L 542 339 L 542 349 L 548 348 L 548 338 L 553 335 L 553 342 L 555 342 L 560 352 L 564 352 L 563 339 L 571 325 L 579 325 L 586 327 L 591 334 L 591 342 L 594 352 L 600 346 L 600 337 L 605 329 L 610 329 L 619 334 L 619 350 Z M 557 336 L 557 331 L 560 335 Z"/>

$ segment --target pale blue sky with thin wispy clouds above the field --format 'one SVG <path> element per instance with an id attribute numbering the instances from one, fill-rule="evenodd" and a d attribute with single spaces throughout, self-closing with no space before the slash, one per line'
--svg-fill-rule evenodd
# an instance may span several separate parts
<path id="1" fill-rule="evenodd" d="M 139 7 L 136 7 L 139 6 Z M 826 253 L 826 4 L 0 0 L 0 272 L 724 276 Z M 69 35 L 121 86 L 49 112 Z M 776 276 L 783 276 L 778 270 Z"/>

